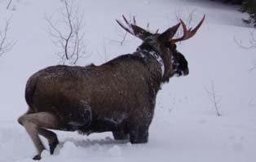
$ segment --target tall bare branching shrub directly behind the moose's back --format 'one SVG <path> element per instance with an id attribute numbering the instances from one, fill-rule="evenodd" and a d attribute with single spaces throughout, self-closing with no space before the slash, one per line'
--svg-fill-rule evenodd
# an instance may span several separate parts
<path id="1" fill-rule="evenodd" d="M 86 55 L 84 42 L 85 33 L 82 32 L 84 14 L 74 7 L 73 0 L 64 0 L 64 7 L 60 9 L 61 21 L 54 21 L 46 16 L 49 33 L 55 46 L 60 48 L 57 55 L 60 63 L 76 64 L 78 59 Z"/>

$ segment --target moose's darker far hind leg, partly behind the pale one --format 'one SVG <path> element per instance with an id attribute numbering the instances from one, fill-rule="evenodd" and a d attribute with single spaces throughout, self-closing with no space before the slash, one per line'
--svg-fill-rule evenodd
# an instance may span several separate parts
<path id="1" fill-rule="evenodd" d="M 51 155 L 53 155 L 55 148 L 59 144 L 57 135 L 54 132 L 52 132 L 51 130 L 47 130 L 47 129 L 38 129 L 38 133 L 48 140 L 49 147 L 50 147 L 50 153 L 51 153 Z"/>

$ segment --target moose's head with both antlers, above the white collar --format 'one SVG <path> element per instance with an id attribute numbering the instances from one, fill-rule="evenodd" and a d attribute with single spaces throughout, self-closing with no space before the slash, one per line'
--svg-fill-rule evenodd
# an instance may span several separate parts
<path id="1" fill-rule="evenodd" d="M 200 23 L 196 25 L 196 28 L 187 29 L 183 20 L 180 20 L 179 24 L 168 28 L 164 33 L 150 33 L 147 30 L 140 28 L 136 24 L 135 16 L 133 17 L 133 23 L 129 23 L 124 15 L 122 15 L 126 25 L 122 24 L 120 20 L 117 20 L 117 24 L 124 28 L 128 33 L 139 37 L 143 41 L 142 45 L 137 50 L 147 50 L 148 52 L 157 53 L 162 59 L 165 72 L 163 72 L 163 81 L 169 81 L 170 77 L 174 75 L 186 76 L 188 75 L 188 61 L 185 57 L 176 50 L 176 43 L 182 42 L 193 37 L 197 30 L 201 27 L 205 20 L 205 15 L 201 19 Z M 183 27 L 183 36 L 179 38 L 173 38 L 180 24 Z"/>

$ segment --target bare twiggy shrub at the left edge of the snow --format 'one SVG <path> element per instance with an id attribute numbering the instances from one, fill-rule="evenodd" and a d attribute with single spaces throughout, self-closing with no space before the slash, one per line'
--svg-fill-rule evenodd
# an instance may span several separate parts
<path id="1" fill-rule="evenodd" d="M 8 30 L 10 27 L 11 18 L 6 20 L 6 23 L 3 28 L 0 28 L 0 56 L 9 52 L 12 47 L 15 45 L 15 42 L 10 41 L 7 37 Z"/>

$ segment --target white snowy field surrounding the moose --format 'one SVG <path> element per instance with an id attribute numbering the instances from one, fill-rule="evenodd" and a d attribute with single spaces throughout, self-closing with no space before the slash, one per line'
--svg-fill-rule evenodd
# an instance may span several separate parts
<path id="1" fill-rule="evenodd" d="M 13 49 L 0 57 L 0 161 L 33 161 L 35 149 L 16 119 L 27 110 L 24 85 L 33 72 L 59 63 L 51 42 L 46 15 L 55 15 L 60 0 L 0 1 L 0 27 L 11 16 L 9 38 Z M 55 131 L 60 139 L 55 155 L 44 151 L 41 161 L 256 161 L 256 48 L 245 50 L 234 42 L 248 43 L 250 30 L 238 7 L 204 0 L 77 0 L 85 12 L 86 52 L 79 65 L 100 64 L 135 51 L 141 43 L 128 36 L 123 46 L 116 23 L 121 15 L 135 15 L 139 26 L 160 32 L 177 24 L 176 16 L 192 26 L 205 14 L 205 24 L 192 39 L 178 44 L 188 60 L 188 77 L 172 78 L 157 95 L 155 116 L 147 144 L 114 141 L 110 133 L 82 136 Z M 14 6 L 15 5 L 15 6 Z M 58 16 L 58 15 L 56 15 Z M 106 55 L 104 53 L 106 52 Z M 216 115 L 207 90 L 221 99 Z M 42 139 L 46 143 L 45 139 Z"/>

